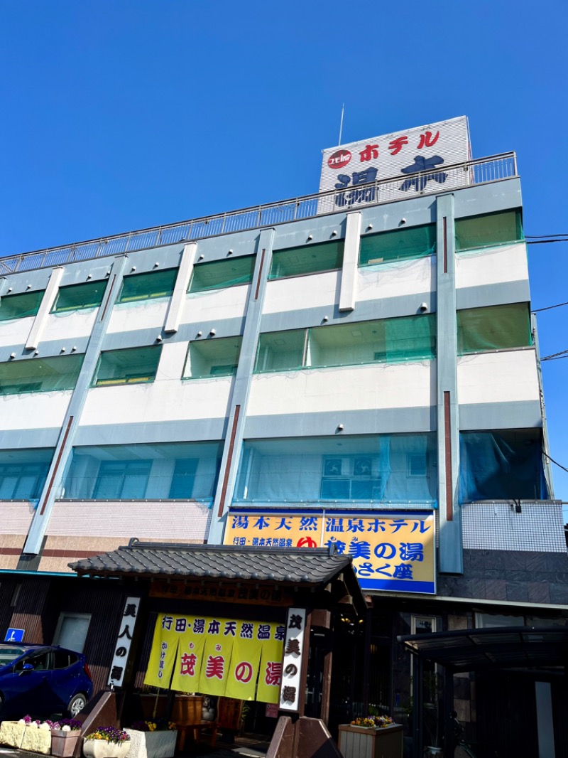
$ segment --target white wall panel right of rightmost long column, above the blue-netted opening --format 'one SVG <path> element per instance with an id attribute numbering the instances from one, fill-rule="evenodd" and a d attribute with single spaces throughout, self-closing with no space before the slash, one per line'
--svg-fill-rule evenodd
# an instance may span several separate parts
<path id="1" fill-rule="evenodd" d="M 538 400 L 535 351 L 481 352 L 457 359 L 457 399 L 460 405 Z"/>

